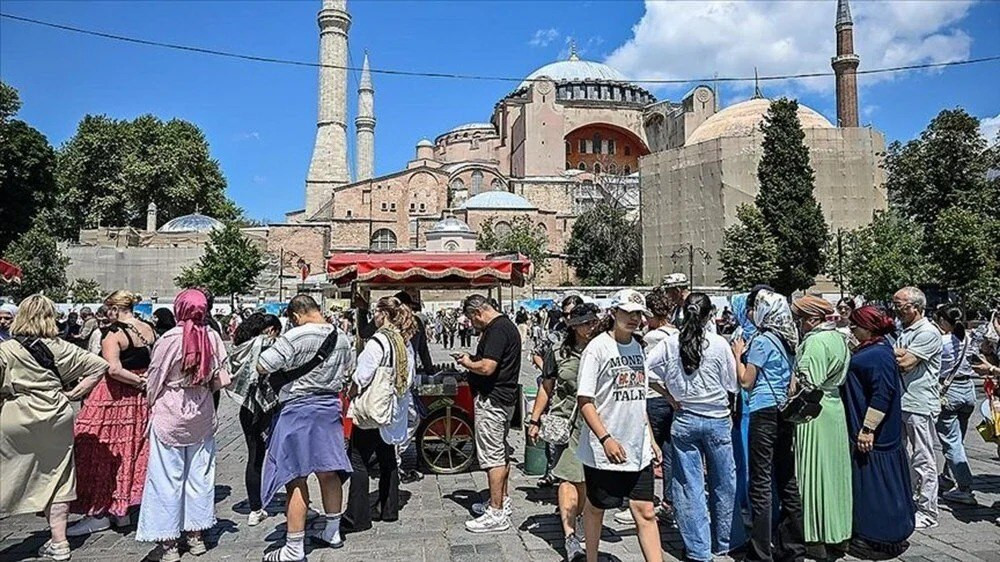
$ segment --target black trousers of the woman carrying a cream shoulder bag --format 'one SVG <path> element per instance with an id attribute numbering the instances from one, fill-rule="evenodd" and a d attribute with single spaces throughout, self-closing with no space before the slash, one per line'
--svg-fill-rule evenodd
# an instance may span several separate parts
<path id="1" fill-rule="evenodd" d="M 368 499 L 368 473 L 378 460 L 378 507 L 383 521 L 399 519 L 399 470 L 396 447 L 382 440 L 377 429 L 351 430 L 351 486 L 347 495 L 344 519 L 356 531 L 372 526 L 371 503 Z"/>

